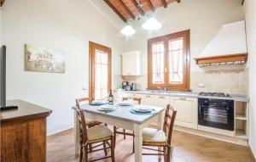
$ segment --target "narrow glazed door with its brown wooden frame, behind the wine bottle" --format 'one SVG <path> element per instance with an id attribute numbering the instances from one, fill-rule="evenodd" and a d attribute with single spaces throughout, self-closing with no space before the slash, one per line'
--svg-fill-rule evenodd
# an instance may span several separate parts
<path id="1" fill-rule="evenodd" d="M 89 98 L 108 98 L 111 89 L 111 48 L 89 42 Z"/>

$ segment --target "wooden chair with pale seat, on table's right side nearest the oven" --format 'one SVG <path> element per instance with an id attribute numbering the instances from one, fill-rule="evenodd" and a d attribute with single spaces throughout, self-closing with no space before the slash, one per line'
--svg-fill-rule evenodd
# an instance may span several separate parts
<path id="1" fill-rule="evenodd" d="M 172 113 L 170 113 L 170 110 L 172 111 Z M 170 106 L 170 104 L 168 104 L 166 108 L 166 115 L 165 115 L 163 130 L 157 130 L 152 128 L 145 128 L 143 130 L 143 146 L 158 147 L 158 149 L 154 149 L 154 148 L 144 148 L 144 149 L 149 149 L 149 150 L 154 150 L 159 152 L 158 154 L 143 154 L 143 155 L 161 155 L 161 156 L 164 156 L 165 162 L 171 161 L 171 156 L 173 153 L 173 149 L 171 146 L 172 129 L 173 129 L 173 124 L 174 124 L 176 114 L 177 114 L 177 111 L 173 109 L 172 106 Z M 159 148 L 163 148 L 163 150 L 160 150 Z"/>

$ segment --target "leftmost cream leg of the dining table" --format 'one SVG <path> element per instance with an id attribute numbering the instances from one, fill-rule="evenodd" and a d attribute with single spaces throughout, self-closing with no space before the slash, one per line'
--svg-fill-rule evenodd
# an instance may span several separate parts
<path id="1" fill-rule="evenodd" d="M 80 154 L 80 129 L 79 129 L 79 118 L 76 110 L 74 110 L 74 142 L 75 142 L 75 154 Z"/>

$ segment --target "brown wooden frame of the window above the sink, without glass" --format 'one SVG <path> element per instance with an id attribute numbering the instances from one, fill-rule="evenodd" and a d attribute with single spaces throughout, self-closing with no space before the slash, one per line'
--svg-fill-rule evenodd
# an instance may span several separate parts
<path id="1" fill-rule="evenodd" d="M 183 83 L 169 83 L 169 41 L 183 37 Z M 153 63 L 152 63 L 152 46 L 154 43 L 164 42 L 165 47 L 165 65 L 164 65 L 164 84 L 153 83 Z M 190 30 L 179 31 L 165 36 L 158 36 L 148 39 L 148 89 L 158 89 L 158 87 L 166 88 L 174 91 L 190 90 Z"/>

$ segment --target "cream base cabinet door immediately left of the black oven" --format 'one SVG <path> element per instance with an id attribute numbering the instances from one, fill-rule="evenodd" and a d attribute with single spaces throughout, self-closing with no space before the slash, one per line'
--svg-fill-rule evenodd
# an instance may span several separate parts
<path id="1" fill-rule="evenodd" d="M 171 98 L 171 105 L 177 109 L 175 125 L 197 129 L 196 98 Z"/>

